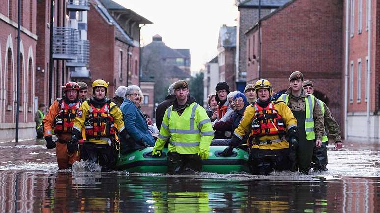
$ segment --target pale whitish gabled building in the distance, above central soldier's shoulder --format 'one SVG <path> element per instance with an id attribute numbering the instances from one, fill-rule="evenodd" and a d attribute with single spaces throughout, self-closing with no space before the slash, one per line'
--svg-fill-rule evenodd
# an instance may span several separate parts
<path id="1" fill-rule="evenodd" d="M 219 64 L 216 56 L 211 61 L 206 63 L 203 75 L 203 106 L 208 106 L 207 97 L 210 94 L 215 94 L 215 87 L 220 82 L 219 78 Z"/>

